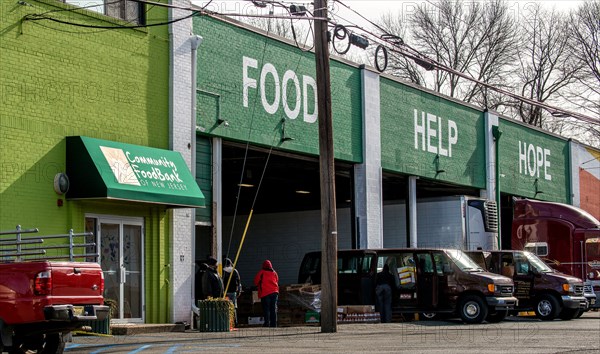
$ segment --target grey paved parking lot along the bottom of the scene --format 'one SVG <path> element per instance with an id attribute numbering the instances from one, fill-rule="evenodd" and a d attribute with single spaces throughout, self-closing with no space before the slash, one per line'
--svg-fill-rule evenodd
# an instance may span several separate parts
<path id="1" fill-rule="evenodd" d="M 320 327 L 246 327 L 233 332 L 75 336 L 67 353 L 598 353 L 600 313 L 572 321 L 509 317 L 497 324 L 460 320 Z"/>

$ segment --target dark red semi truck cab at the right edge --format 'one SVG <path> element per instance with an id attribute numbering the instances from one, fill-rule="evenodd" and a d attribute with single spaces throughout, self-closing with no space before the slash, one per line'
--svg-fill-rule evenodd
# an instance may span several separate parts
<path id="1" fill-rule="evenodd" d="M 600 306 L 600 221 L 591 214 L 567 204 L 515 199 L 511 246 L 583 279 L 589 305 Z"/>

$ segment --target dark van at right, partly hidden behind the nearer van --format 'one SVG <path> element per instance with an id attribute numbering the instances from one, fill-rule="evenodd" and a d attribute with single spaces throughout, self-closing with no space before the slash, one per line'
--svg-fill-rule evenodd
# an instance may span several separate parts
<path id="1" fill-rule="evenodd" d="M 519 299 L 516 310 L 533 310 L 538 318 L 551 321 L 557 317 L 573 319 L 587 307 L 581 279 L 555 271 L 531 252 L 502 250 L 466 253 L 488 271 L 513 279 L 515 296 Z"/>

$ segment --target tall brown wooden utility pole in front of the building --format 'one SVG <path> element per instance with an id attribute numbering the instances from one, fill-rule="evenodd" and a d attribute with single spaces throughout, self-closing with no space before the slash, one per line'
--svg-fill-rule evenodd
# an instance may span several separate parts
<path id="1" fill-rule="evenodd" d="M 315 17 L 327 18 L 327 0 L 315 1 Z M 337 215 L 327 21 L 315 20 L 319 168 L 321 175 L 321 332 L 337 332 Z"/>

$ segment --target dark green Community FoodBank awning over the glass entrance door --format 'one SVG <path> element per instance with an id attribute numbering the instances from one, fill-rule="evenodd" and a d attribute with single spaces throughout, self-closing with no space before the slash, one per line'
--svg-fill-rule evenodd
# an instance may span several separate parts
<path id="1" fill-rule="evenodd" d="M 180 153 L 114 141 L 67 137 L 67 199 L 116 199 L 204 207 Z"/>

